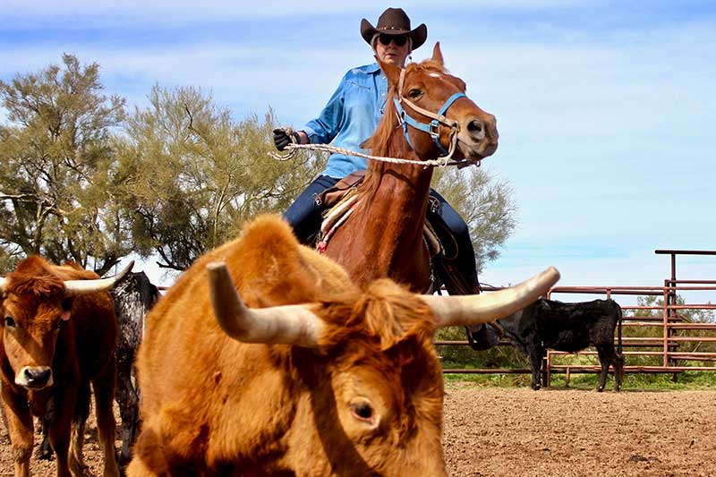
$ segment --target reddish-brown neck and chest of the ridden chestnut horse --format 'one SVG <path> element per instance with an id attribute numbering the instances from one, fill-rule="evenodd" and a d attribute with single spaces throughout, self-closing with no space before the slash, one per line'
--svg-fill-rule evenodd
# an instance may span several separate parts
<path id="1" fill-rule="evenodd" d="M 388 97 L 392 96 L 391 89 Z M 392 101 L 366 145 L 374 156 L 418 160 L 398 127 Z M 328 248 L 356 283 L 391 277 L 417 292 L 429 285 L 422 229 L 431 178 L 431 167 L 369 161 L 354 218 L 346 223 L 333 250 Z"/>

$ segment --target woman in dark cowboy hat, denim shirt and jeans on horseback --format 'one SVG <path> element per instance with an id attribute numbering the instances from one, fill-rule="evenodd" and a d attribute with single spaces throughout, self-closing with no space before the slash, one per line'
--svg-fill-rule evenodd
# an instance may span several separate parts
<path id="1" fill-rule="evenodd" d="M 373 48 L 380 61 L 405 66 L 405 60 L 414 49 L 421 47 L 428 36 L 424 23 L 411 30 L 410 19 L 400 8 L 388 8 L 383 12 L 376 28 L 365 19 L 361 23 L 362 38 Z M 303 131 L 286 133 L 284 129 L 274 132 L 277 149 L 283 150 L 289 142 L 301 144 L 328 144 L 333 141 L 337 147 L 361 150 L 361 143 L 367 140 L 378 126 L 386 107 L 388 81 L 377 63 L 353 68 L 345 74 L 338 89 L 328 100 L 317 119 L 306 124 Z M 326 170 L 286 210 L 284 217 L 294 227 L 295 234 L 305 240 L 320 226 L 322 207 L 315 197 L 340 179 L 355 171 L 366 168 L 366 160 L 344 154 L 332 154 Z M 460 272 L 479 293 L 473 243 L 465 220 L 438 192 L 430 195 L 442 205 L 440 216 L 450 227 L 459 242 L 461 256 L 456 260 Z"/>

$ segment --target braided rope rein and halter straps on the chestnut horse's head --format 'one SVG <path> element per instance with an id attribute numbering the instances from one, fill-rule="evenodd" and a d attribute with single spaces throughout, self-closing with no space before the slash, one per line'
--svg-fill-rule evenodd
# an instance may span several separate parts
<path id="1" fill-rule="evenodd" d="M 400 70 L 400 81 L 398 82 L 398 88 L 397 88 L 397 98 L 393 98 L 393 101 L 396 105 L 397 109 L 397 119 L 398 123 L 403 126 L 403 132 L 405 133 L 405 140 L 408 141 L 408 145 L 413 148 L 413 143 L 410 141 L 410 135 L 408 134 L 408 126 L 412 126 L 413 128 L 417 129 L 418 131 L 426 132 L 430 134 L 430 137 L 432 138 L 432 141 L 435 143 L 435 145 L 438 147 L 438 149 L 442 152 L 443 156 L 440 156 L 437 159 L 430 159 L 426 161 L 421 160 L 413 160 L 413 159 L 405 159 L 405 158 L 386 158 L 381 156 L 371 156 L 370 154 L 364 154 L 362 152 L 354 151 L 351 149 L 344 149 L 344 148 L 337 148 L 336 146 L 331 146 L 329 144 L 288 144 L 286 145 L 286 149 L 288 149 L 288 152 L 285 154 L 280 154 L 274 151 L 269 151 L 268 156 L 271 158 L 274 158 L 279 161 L 286 161 L 289 159 L 294 158 L 296 153 L 298 152 L 298 149 L 311 149 L 311 150 L 320 150 L 323 152 L 329 152 L 331 154 L 337 153 L 337 154 L 344 154 L 345 156 L 354 156 L 357 158 L 365 158 L 365 159 L 373 159 L 373 160 L 379 160 L 382 162 L 389 162 L 393 164 L 414 164 L 416 166 L 424 166 L 424 167 L 430 167 L 430 166 L 438 166 L 438 167 L 445 167 L 445 166 L 458 166 L 459 168 L 465 167 L 465 166 L 480 166 L 482 163 L 482 160 L 478 161 L 471 161 L 468 159 L 462 159 L 462 160 L 451 160 L 453 157 L 453 154 L 455 154 L 456 148 L 457 148 L 457 133 L 460 132 L 460 125 L 457 123 L 456 120 L 450 119 L 445 116 L 445 113 L 447 112 L 447 109 L 455 103 L 455 101 L 459 98 L 465 98 L 464 93 L 455 93 L 450 98 L 447 98 L 447 101 L 445 101 L 445 104 L 440 107 L 438 113 L 433 113 L 432 111 L 428 111 L 427 109 L 423 109 L 420 106 L 416 106 L 413 104 L 412 101 L 410 101 L 408 98 L 403 97 L 403 82 L 405 81 L 405 68 Z M 430 123 L 419 123 L 416 121 L 412 116 L 407 115 L 405 113 L 405 109 L 403 106 L 401 106 L 401 103 L 405 103 L 406 106 L 413 109 L 413 111 L 420 113 L 421 115 L 426 115 L 432 119 Z M 449 127 L 452 131 L 450 132 L 450 149 L 445 149 L 445 146 L 442 145 L 440 142 L 440 124 L 446 125 Z"/>

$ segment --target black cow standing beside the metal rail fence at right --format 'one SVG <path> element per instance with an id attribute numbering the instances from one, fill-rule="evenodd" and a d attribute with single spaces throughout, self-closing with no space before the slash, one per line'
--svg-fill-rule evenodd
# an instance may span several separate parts
<path id="1" fill-rule="evenodd" d="M 621 318 L 621 307 L 614 300 L 563 303 L 540 299 L 501 319 L 499 324 L 512 344 L 529 356 L 533 389 L 540 388 L 541 366 L 547 348 L 574 353 L 593 345 L 601 362 L 597 391 L 604 390 L 609 364 L 614 367 L 614 389 L 618 391 L 624 377 Z M 617 324 L 618 350 L 615 350 Z"/>

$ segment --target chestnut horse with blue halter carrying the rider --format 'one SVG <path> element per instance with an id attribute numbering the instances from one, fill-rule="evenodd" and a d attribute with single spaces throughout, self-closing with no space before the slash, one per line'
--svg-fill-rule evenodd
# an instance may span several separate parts
<path id="1" fill-rule="evenodd" d="M 388 78 L 388 100 L 378 128 L 363 143 L 373 156 L 425 161 L 442 154 L 479 161 L 495 152 L 495 116 L 465 96 L 464 81 L 446 72 L 439 43 L 432 58 L 405 69 L 378 61 Z M 422 230 L 431 177 L 431 166 L 369 161 L 359 203 L 326 254 L 360 285 L 390 277 L 415 292 L 429 290 Z"/>

